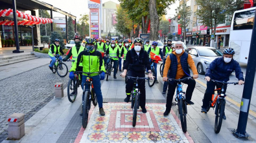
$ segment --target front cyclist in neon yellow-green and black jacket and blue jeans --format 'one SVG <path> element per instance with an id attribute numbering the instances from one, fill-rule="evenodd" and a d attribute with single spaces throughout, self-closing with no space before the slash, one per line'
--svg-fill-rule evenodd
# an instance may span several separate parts
<path id="1" fill-rule="evenodd" d="M 105 77 L 105 68 L 103 65 L 102 55 L 100 52 L 95 50 L 95 40 L 94 39 L 86 39 L 86 50 L 79 53 L 77 60 L 75 61 L 75 64 L 73 64 L 72 68 L 70 69 L 69 78 L 73 79 L 75 77 L 74 72 L 77 69 L 77 67 L 80 65 L 80 62 L 82 62 L 83 66 L 83 72 L 100 72 L 99 73 L 93 73 L 91 74 L 91 79 L 93 79 L 93 88 L 95 91 L 95 94 L 97 96 L 98 104 L 99 104 L 99 112 L 100 115 L 104 116 L 105 112 L 103 109 L 103 99 L 102 99 L 102 92 L 100 89 L 100 80 L 103 80 Z M 82 85 L 86 82 L 87 74 L 82 73 Z M 89 89 L 90 87 L 86 86 L 86 89 Z M 82 89 L 84 89 L 84 86 L 82 86 Z M 82 114 L 80 114 L 82 115 Z"/>

